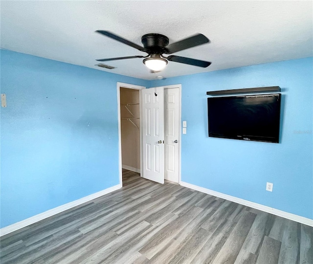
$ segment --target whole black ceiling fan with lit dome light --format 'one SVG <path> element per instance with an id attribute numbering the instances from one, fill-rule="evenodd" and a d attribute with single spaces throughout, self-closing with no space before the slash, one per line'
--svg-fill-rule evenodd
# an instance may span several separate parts
<path id="1" fill-rule="evenodd" d="M 135 49 L 148 53 L 147 56 L 129 56 L 129 57 L 119 57 L 119 58 L 97 60 L 99 62 L 144 58 L 143 63 L 149 69 L 153 71 L 162 70 L 167 65 L 167 61 L 178 62 L 178 63 L 188 64 L 188 65 L 193 65 L 193 66 L 199 66 L 203 68 L 211 64 L 210 62 L 186 58 L 186 57 L 180 57 L 180 56 L 175 56 L 175 55 L 170 55 L 168 57 L 165 57 L 163 55 L 163 54 L 172 54 L 174 52 L 178 52 L 187 48 L 209 43 L 210 42 L 209 39 L 206 38 L 202 34 L 196 34 L 189 38 L 169 44 L 168 37 L 161 35 L 161 34 L 150 33 L 150 34 L 143 35 L 141 37 L 141 42 L 143 44 L 143 47 L 142 47 L 124 38 L 121 38 L 109 31 L 96 30 L 96 32 L 102 35 L 105 35 L 118 42 L 134 47 Z"/>

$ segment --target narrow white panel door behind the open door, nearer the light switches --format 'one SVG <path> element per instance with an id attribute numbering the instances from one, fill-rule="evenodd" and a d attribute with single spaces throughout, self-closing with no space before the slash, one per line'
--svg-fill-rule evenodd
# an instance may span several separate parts
<path id="1" fill-rule="evenodd" d="M 179 182 L 179 88 L 164 89 L 164 178 Z"/>

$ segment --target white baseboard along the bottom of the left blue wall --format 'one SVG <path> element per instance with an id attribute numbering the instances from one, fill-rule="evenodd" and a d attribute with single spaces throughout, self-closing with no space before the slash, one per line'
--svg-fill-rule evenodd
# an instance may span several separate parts
<path id="1" fill-rule="evenodd" d="M 73 208 L 77 205 L 80 205 L 80 204 L 83 204 L 85 202 L 88 202 L 90 200 L 93 200 L 95 198 L 98 198 L 100 196 L 103 196 L 103 195 L 106 195 L 106 194 L 109 194 L 109 193 L 112 193 L 118 189 L 121 188 L 121 185 L 118 184 L 118 185 L 115 185 L 115 186 L 112 186 L 110 188 L 107 188 L 105 190 L 102 190 L 100 192 L 97 192 L 97 193 L 94 193 L 94 194 L 91 194 L 89 196 L 86 196 L 86 197 L 83 197 L 83 198 L 80 198 L 78 200 L 75 200 L 75 201 L 72 201 L 72 202 L 68 202 L 66 204 L 63 204 L 63 205 L 60 205 L 58 207 L 55 207 L 55 208 L 52 208 L 48 211 L 45 211 L 41 214 L 38 214 L 38 215 L 35 215 L 33 217 L 30 217 L 30 218 L 27 218 L 25 220 L 22 220 L 20 222 L 17 222 L 17 223 L 14 223 L 14 224 L 11 224 L 11 225 L 8 225 L 8 226 L 5 226 L 3 228 L 0 229 L 0 237 L 6 235 L 6 234 L 9 234 L 11 232 L 14 232 L 16 230 L 19 230 L 27 225 L 30 225 L 30 224 L 33 224 L 33 223 L 36 223 L 40 220 L 44 220 L 48 217 L 51 217 L 53 215 L 56 215 L 58 213 L 61 213 L 63 211 L 66 211 L 70 208 Z"/>

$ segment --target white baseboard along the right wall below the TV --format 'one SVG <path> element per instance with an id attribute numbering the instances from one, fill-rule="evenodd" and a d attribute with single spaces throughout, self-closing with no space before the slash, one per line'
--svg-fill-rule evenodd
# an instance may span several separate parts
<path id="1" fill-rule="evenodd" d="M 215 196 L 215 197 L 223 198 L 225 200 L 229 200 L 229 201 L 236 202 L 236 203 L 239 203 L 239 204 L 242 204 L 242 205 L 246 205 L 248 207 L 252 207 L 254 209 L 258 209 L 258 210 L 261 210 L 261 211 L 264 211 L 264 212 L 267 212 L 267 213 L 270 213 L 270 214 L 273 214 L 273 215 L 276 215 L 276 216 L 279 216 L 279 217 L 283 217 L 283 218 L 286 218 L 286 219 L 289 219 L 289 220 L 293 220 L 293 221 L 296 221 L 296 222 L 299 222 L 299 223 L 303 223 L 303 224 L 306 224 L 306 225 L 313 226 L 313 220 L 309 219 L 309 218 L 297 216 L 297 215 L 294 215 L 294 214 L 291 214 L 291 213 L 287 213 L 287 212 L 284 212 L 284 211 L 281 211 L 281 210 L 278 210 L 278 209 L 275 209 L 275 208 L 271 208 L 271 207 L 268 207 L 268 206 L 265 206 L 265 205 L 262 205 L 262 204 L 259 204 L 259 203 L 255 203 L 255 202 L 247 201 L 247 200 L 244 200 L 244 199 L 241 199 L 241 198 L 237 198 L 237 197 L 233 197 L 233 196 L 230 196 L 230 195 L 222 194 L 222 193 L 219 193 L 219 192 L 216 192 L 216 191 L 212 191 L 210 189 L 206 189 L 206 188 L 203 188 L 203 187 L 200 187 L 200 186 L 197 186 L 197 185 L 193 185 L 193 184 L 187 183 L 187 182 L 181 181 L 180 185 L 184 186 L 184 187 L 187 187 L 187 188 L 190 188 L 190 189 L 193 189 L 193 190 L 196 190 L 196 191 L 199 191 L 201 193 L 205 193 L 205 194 L 209 194 L 209 195 L 212 195 L 212 196 Z"/>

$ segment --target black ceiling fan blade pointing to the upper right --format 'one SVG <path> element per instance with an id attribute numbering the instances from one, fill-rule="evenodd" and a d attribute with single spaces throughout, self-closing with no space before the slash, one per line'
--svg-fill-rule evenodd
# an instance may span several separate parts
<path id="1" fill-rule="evenodd" d="M 168 50 L 167 54 L 171 54 L 174 52 L 178 52 L 180 50 L 195 47 L 195 46 L 198 46 L 204 43 L 209 43 L 209 42 L 210 40 L 207 37 L 205 37 L 202 34 L 197 34 L 187 39 L 167 45 L 166 46 L 166 49 Z"/>

